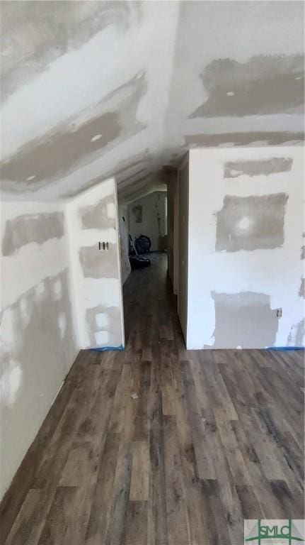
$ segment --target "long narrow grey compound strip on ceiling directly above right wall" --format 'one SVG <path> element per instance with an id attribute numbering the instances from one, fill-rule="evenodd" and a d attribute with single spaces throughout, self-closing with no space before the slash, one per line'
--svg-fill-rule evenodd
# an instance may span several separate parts
<path id="1" fill-rule="evenodd" d="M 288 143 L 302 143 L 304 133 L 263 132 L 251 133 L 216 133 L 216 134 L 186 134 L 183 136 L 185 146 L 203 148 L 217 148 L 219 145 L 243 146 L 259 143 L 259 145 L 282 145 Z"/>

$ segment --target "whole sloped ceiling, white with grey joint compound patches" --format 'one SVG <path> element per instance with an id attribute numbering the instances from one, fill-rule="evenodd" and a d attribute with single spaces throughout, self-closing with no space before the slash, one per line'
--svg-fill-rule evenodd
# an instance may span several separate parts
<path id="1" fill-rule="evenodd" d="M 303 140 L 301 1 L 4 1 L 4 198 L 126 198 L 190 147 Z"/>

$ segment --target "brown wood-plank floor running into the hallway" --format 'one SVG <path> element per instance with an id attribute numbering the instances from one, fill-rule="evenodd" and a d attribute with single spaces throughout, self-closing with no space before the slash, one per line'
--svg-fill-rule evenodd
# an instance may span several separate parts
<path id="1" fill-rule="evenodd" d="M 239 545 L 244 518 L 304 518 L 303 353 L 186 351 L 152 262 L 125 285 L 125 351 L 74 363 L 1 544 Z"/>

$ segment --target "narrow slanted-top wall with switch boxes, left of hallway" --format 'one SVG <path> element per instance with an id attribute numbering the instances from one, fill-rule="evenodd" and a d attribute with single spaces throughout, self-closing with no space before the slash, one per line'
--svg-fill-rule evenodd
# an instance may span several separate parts
<path id="1" fill-rule="evenodd" d="M 79 344 L 124 346 L 115 180 L 71 200 L 67 219 Z"/>

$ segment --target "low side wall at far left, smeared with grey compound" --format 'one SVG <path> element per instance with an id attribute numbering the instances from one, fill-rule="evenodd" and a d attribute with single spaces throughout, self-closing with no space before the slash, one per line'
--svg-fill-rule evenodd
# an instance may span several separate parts
<path id="1" fill-rule="evenodd" d="M 2 496 L 79 347 L 63 207 L 2 203 L 1 242 Z"/>

